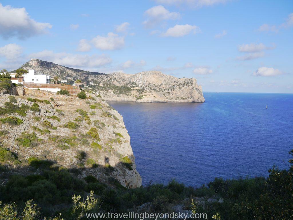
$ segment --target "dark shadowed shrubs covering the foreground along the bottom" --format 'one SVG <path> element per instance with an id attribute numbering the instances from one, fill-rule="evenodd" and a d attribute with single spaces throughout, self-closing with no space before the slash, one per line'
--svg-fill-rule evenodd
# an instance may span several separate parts
<path id="1" fill-rule="evenodd" d="M 293 150 L 289 153 L 293 157 Z M 85 153 L 81 151 L 77 157 L 82 161 Z M 17 158 L 1 148 L 0 161 L 5 160 L 17 161 Z M 127 157 L 121 161 L 130 163 Z M 86 164 L 98 166 L 91 158 Z M 148 204 L 149 213 L 172 212 L 174 205 L 184 204 L 193 213 L 206 213 L 207 219 L 293 218 L 293 159 L 289 160 L 288 170 L 279 170 L 273 166 L 268 178 L 215 178 L 207 186 L 199 188 L 186 187 L 171 180 L 167 185 L 149 183 L 144 187 L 126 189 L 119 186 L 115 179 L 113 185 L 117 186 L 112 188 L 100 183 L 92 175 L 86 176 L 84 180 L 77 179 L 69 172 L 73 170 L 54 167 L 50 161 L 44 162 L 35 157 L 28 158 L 28 166 L 41 169 L 42 173 L 12 175 L 0 187 L 2 219 L 24 219 L 26 210 L 35 213 L 25 218 L 30 220 L 42 219 L 44 216 L 64 220 L 86 219 L 85 213 L 124 213 L 127 210 L 139 210 L 137 208 L 142 204 Z M 1 169 L 9 172 L 9 168 L 4 166 Z M 207 198 L 210 198 L 209 202 L 199 201 Z M 81 201 L 88 202 L 86 209 L 81 208 L 85 205 L 79 204 Z M 62 209 L 64 206 L 67 208 Z M 78 209 L 83 211 L 76 211 Z"/>

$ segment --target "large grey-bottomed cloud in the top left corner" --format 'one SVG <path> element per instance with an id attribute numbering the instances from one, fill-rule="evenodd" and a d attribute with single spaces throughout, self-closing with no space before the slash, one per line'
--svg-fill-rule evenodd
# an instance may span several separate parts
<path id="1" fill-rule="evenodd" d="M 0 35 L 4 39 L 12 36 L 25 39 L 46 33 L 47 28 L 52 28 L 52 25 L 36 22 L 30 18 L 25 8 L 13 8 L 0 3 Z"/>

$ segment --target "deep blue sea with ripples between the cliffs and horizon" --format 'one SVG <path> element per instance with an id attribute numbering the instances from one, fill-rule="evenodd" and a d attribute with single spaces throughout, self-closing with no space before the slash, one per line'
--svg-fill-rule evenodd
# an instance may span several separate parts
<path id="1" fill-rule="evenodd" d="M 268 176 L 288 168 L 293 94 L 204 93 L 205 103 L 108 102 L 124 118 L 143 185 Z M 268 109 L 266 109 L 268 105 Z"/>

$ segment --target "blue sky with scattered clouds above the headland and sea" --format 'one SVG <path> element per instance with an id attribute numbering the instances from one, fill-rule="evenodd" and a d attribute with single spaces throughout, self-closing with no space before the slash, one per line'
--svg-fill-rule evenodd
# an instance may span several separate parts
<path id="1" fill-rule="evenodd" d="M 0 69 L 30 58 L 293 93 L 293 1 L 0 1 Z"/>

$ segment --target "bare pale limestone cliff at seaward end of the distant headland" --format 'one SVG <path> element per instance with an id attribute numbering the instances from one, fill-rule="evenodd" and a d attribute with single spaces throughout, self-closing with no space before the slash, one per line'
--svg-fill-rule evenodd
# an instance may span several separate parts
<path id="1" fill-rule="evenodd" d="M 105 100 L 136 102 L 204 102 L 195 78 L 176 78 L 160 71 L 89 76 L 90 87 Z"/>

